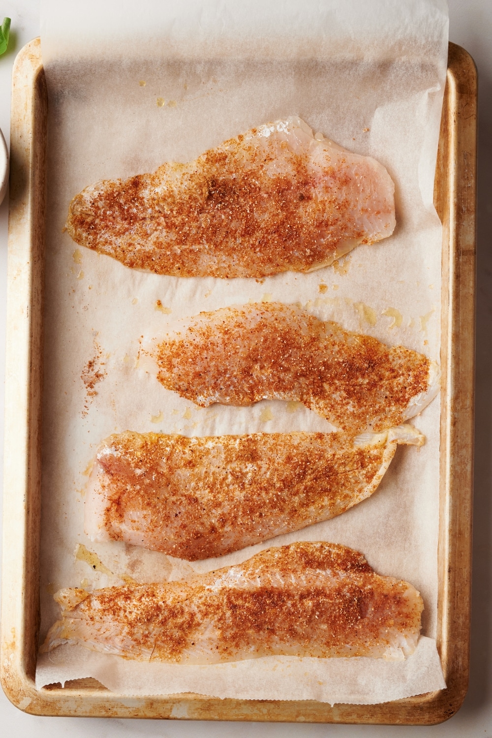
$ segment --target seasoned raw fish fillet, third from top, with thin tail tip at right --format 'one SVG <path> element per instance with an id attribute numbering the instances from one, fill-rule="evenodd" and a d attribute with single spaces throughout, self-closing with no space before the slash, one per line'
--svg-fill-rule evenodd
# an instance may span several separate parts
<path id="1" fill-rule="evenodd" d="M 86 533 L 188 561 L 221 556 L 339 515 L 378 487 L 404 425 L 344 433 L 186 438 L 125 432 L 105 441 L 86 490 Z"/>

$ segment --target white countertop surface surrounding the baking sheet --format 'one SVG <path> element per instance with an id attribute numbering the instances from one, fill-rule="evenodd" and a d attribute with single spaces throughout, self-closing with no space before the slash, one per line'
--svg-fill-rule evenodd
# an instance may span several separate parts
<path id="1" fill-rule="evenodd" d="M 103 1 L 103 0 L 102 0 Z M 404 0 L 401 0 L 404 1 Z M 475 449 L 474 577 L 471 680 L 458 713 L 443 725 L 392 727 L 292 723 L 199 723 L 34 717 L 19 711 L 0 690 L 0 726 L 18 738 L 243 737 L 492 738 L 492 0 L 449 0 L 450 38 L 471 53 L 479 69 L 479 236 L 477 281 L 477 421 Z M 0 15 L 12 18 L 11 42 L 0 57 L 0 128 L 9 141 L 10 77 L 18 50 L 39 35 L 39 1 L 5 0 Z M 1 21 L 0 18 L 0 21 Z M 97 19 L 94 19 L 97 22 Z M 0 206 L 0 386 L 4 379 L 8 198 Z M 0 416 L 3 416 L 3 389 Z M 0 430 L 0 449 L 3 430 Z"/>

